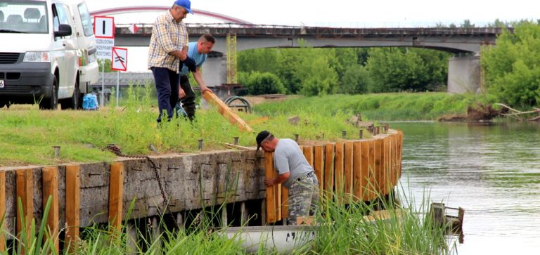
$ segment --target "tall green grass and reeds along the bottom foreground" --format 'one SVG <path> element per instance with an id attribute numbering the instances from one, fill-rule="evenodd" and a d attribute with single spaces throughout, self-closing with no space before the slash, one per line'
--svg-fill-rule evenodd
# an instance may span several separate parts
<path id="1" fill-rule="evenodd" d="M 418 206 L 403 194 L 397 197 L 412 206 L 402 209 L 401 214 L 391 211 L 385 221 L 375 222 L 366 221 L 364 215 L 379 207 L 393 208 L 396 206 L 394 200 L 379 198 L 371 204 L 359 202 L 345 207 L 342 202 L 323 197 L 319 205 L 323 214 L 317 216 L 320 226 L 314 240 L 293 254 L 456 253 L 455 238 L 446 237 L 444 226 L 435 224 L 428 214 L 429 197 L 423 197 Z M 50 200 L 44 210 L 44 218 L 49 207 Z M 120 232 L 111 226 L 97 224 L 84 228 L 82 240 L 65 244 L 60 254 L 67 253 L 68 249 L 74 249 L 75 254 L 245 254 L 240 242 L 229 240 L 216 231 L 214 226 L 220 224 L 220 215 L 210 208 L 203 209 L 184 228 L 167 227 L 162 216 L 157 221 L 162 232 L 153 233 L 152 226 L 144 219 L 139 224 L 130 220 L 133 207 L 134 202 Z M 58 237 L 51 237 L 44 223 L 42 221 L 39 229 L 32 223 L 30 233 L 21 233 L 19 239 L 13 237 L 18 242 L 6 243 L 6 254 L 56 254 L 52 240 Z M 277 251 L 259 247 L 256 254 L 277 254 Z"/>

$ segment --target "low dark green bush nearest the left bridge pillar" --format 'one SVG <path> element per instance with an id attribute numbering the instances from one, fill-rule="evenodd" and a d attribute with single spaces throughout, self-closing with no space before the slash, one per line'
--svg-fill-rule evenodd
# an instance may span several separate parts
<path id="1" fill-rule="evenodd" d="M 243 74 L 240 81 L 245 85 L 250 95 L 285 93 L 285 86 L 283 86 L 279 77 L 269 72 L 252 72 L 247 77 Z"/>

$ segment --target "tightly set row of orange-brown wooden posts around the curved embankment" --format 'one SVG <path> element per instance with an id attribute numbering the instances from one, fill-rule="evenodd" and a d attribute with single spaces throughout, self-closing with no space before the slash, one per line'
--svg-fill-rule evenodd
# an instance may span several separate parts
<path id="1" fill-rule="evenodd" d="M 390 130 L 370 139 L 345 140 L 326 145 L 301 145 L 315 170 L 321 195 L 345 204 L 372 201 L 387 195 L 401 177 L 403 132 Z M 265 178 L 276 178 L 274 156 L 265 152 Z M 335 195 L 335 197 L 333 197 Z M 266 188 L 266 222 L 288 216 L 288 189 Z"/>

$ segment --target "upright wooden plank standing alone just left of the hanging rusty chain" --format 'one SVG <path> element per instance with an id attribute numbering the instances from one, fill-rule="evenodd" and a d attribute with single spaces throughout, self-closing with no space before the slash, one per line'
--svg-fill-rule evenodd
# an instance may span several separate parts
<path id="1" fill-rule="evenodd" d="M 109 223 L 117 233 L 122 230 L 122 207 L 124 205 L 124 163 L 110 164 Z"/>

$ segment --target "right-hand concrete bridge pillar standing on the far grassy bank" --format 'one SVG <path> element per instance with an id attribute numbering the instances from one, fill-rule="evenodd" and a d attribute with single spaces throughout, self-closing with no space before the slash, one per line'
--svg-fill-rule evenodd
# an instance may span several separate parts
<path id="1" fill-rule="evenodd" d="M 448 65 L 448 92 L 480 92 L 480 55 L 455 55 Z"/>

